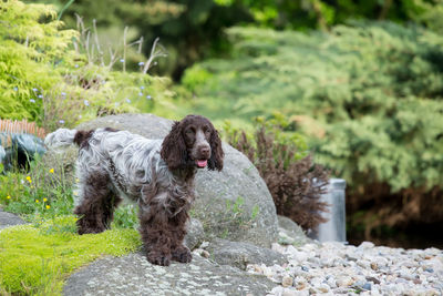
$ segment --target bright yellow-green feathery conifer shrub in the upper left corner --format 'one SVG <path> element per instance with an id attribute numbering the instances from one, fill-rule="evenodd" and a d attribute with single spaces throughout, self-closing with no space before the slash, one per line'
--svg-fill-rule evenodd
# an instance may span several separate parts
<path id="1" fill-rule="evenodd" d="M 68 48 L 76 32 L 59 30 L 50 6 L 9 0 L 0 11 L 0 118 L 39 121 L 41 90 L 60 83 L 59 71 L 74 62 Z"/>

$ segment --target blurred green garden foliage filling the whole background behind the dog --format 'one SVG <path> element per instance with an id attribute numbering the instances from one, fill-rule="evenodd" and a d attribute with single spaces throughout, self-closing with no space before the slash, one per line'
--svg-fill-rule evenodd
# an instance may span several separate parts
<path id="1" fill-rule="evenodd" d="M 259 116 L 346 178 L 351 243 L 443 246 L 443 0 L 25 3 L 0 4 L 1 119 Z"/>

